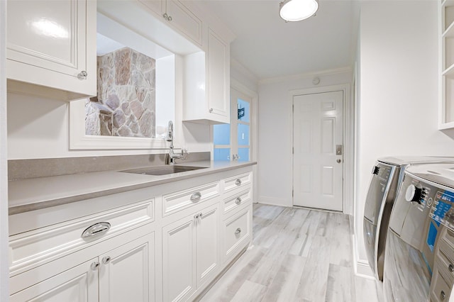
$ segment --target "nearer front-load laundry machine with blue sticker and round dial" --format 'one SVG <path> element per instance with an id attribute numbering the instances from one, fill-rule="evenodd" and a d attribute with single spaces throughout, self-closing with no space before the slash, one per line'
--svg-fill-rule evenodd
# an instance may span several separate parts
<path id="1" fill-rule="evenodd" d="M 453 284 L 454 164 L 408 167 L 389 220 L 384 300 L 447 302 Z"/>

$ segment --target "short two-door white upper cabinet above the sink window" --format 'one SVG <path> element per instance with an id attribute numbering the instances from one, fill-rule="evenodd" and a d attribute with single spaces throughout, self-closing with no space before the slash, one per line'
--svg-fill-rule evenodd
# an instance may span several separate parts
<path id="1" fill-rule="evenodd" d="M 202 21 L 182 1 L 139 0 L 192 43 L 202 45 Z"/>

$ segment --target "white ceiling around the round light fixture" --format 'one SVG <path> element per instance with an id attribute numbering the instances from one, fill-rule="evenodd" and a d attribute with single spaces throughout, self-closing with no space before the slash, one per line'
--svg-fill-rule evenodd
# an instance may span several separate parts
<path id="1" fill-rule="evenodd" d="M 258 79 L 352 67 L 358 1 L 321 0 L 316 16 L 285 23 L 279 0 L 202 0 L 236 35 L 231 57 Z"/>

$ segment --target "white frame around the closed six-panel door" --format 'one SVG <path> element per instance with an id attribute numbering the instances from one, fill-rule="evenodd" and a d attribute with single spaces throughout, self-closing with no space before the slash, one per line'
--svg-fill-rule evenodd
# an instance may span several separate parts
<path id="1" fill-rule="evenodd" d="M 294 131 L 293 131 L 293 105 L 294 96 L 304 94 L 320 94 L 323 92 L 343 91 L 343 213 L 353 215 L 353 197 L 354 197 L 354 107 L 353 101 L 351 100 L 350 84 L 339 84 L 332 86 L 321 86 L 307 89 L 295 89 L 289 91 L 290 104 L 290 123 L 292 125 L 290 129 L 290 140 L 292 142 L 292 148 L 289 150 L 290 164 L 292 166 L 292 189 L 293 189 L 293 173 L 294 173 L 294 160 L 293 160 L 293 147 L 294 147 Z M 293 197 L 292 197 L 293 205 Z"/>

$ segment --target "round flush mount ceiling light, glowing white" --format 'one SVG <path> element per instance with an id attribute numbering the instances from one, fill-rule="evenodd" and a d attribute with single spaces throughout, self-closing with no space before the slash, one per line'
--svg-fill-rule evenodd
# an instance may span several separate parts
<path id="1" fill-rule="evenodd" d="M 279 16 L 286 22 L 301 21 L 314 16 L 317 9 L 317 0 L 285 0 L 279 4 Z"/>

